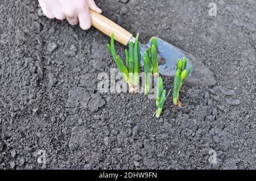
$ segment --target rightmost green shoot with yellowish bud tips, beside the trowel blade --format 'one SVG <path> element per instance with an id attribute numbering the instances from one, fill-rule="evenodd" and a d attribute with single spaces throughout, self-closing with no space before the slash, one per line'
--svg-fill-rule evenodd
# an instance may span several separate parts
<path id="1" fill-rule="evenodd" d="M 185 81 L 185 79 L 187 79 L 191 71 L 191 66 L 188 68 L 188 70 L 186 69 L 187 64 L 188 59 L 185 59 L 185 57 L 183 57 L 183 60 L 177 60 L 177 71 L 174 77 L 174 89 L 172 90 L 172 102 L 175 106 L 178 107 L 181 107 L 181 102 L 179 101 L 179 91 L 183 85 L 183 82 Z"/>

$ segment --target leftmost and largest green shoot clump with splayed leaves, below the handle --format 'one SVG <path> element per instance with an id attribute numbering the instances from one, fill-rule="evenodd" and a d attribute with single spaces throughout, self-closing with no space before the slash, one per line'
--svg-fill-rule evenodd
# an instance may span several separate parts
<path id="1" fill-rule="evenodd" d="M 114 45 L 114 33 L 111 35 L 110 45 L 107 45 L 112 54 L 117 68 L 121 71 L 123 78 L 129 85 L 129 89 L 135 91 L 134 87 L 139 85 L 139 70 L 141 68 L 141 46 L 139 45 L 139 33 L 137 33 L 135 43 L 130 41 L 129 50 L 125 49 L 125 61 L 117 56 Z"/>

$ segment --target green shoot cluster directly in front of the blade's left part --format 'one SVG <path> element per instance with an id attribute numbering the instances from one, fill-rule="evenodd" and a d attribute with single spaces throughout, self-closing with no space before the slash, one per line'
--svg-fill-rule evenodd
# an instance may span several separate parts
<path id="1" fill-rule="evenodd" d="M 158 75 L 158 41 L 156 37 L 151 39 L 151 46 L 146 49 L 143 57 L 145 73 L 144 94 L 147 95 L 150 87 L 150 75 Z"/>

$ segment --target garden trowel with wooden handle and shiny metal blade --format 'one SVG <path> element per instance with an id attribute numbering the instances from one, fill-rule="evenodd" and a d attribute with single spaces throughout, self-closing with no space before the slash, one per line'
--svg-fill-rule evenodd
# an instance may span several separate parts
<path id="1" fill-rule="evenodd" d="M 110 37 L 112 33 L 114 33 L 114 39 L 125 46 L 129 44 L 130 41 L 135 41 L 135 37 L 130 32 L 126 31 L 112 20 L 92 10 L 90 10 L 90 13 L 92 15 L 92 26 L 105 35 Z M 167 43 L 159 37 L 156 37 L 156 39 L 158 40 L 158 64 L 160 74 L 174 76 L 176 73 L 176 61 L 178 58 L 182 60 L 182 58 L 185 57 L 188 58 L 187 67 L 192 67 L 191 77 L 188 78 L 188 82 L 205 86 L 214 85 L 216 83 L 212 71 L 210 71 L 199 58 L 195 58 L 192 54 Z M 147 44 L 140 44 L 142 65 L 143 54 L 150 44 L 151 39 Z"/>

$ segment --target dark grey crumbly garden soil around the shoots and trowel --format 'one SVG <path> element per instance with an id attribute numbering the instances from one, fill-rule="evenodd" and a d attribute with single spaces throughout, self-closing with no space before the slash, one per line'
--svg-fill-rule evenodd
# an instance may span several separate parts
<path id="1" fill-rule="evenodd" d="M 109 37 L 39 16 L 37 1 L 3 0 L 0 169 L 256 169 L 256 2 L 215 1 L 216 17 L 212 1 L 96 2 L 142 42 L 201 57 L 216 83 L 184 83 L 183 106 L 170 96 L 151 118 L 154 99 L 97 91 L 98 73 L 115 68 Z"/>

